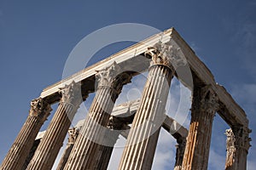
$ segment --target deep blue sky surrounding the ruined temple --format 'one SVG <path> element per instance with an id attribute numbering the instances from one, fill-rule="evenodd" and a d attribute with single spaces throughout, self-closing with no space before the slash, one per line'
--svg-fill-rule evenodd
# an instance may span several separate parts
<path id="1" fill-rule="evenodd" d="M 256 111 L 255 18 L 256 2 L 253 0 L 1 0 L 0 161 L 25 122 L 30 101 L 37 98 L 45 87 L 61 80 L 66 59 L 74 46 L 92 31 L 130 22 L 154 26 L 162 31 L 174 26 L 195 49 L 212 71 L 216 82 L 224 85 L 247 112 L 253 129 L 253 147 L 249 150 L 247 169 L 253 169 L 256 166 L 253 162 L 256 156 L 256 121 L 253 117 Z M 120 43 L 113 48 L 105 48 L 94 61 L 108 57 L 126 45 Z M 219 116 L 215 116 L 209 169 L 219 169 L 218 166 L 223 164 L 224 160 L 218 159 L 225 154 L 226 127 Z M 170 159 L 172 161 L 173 157 Z M 168 159 L 164 160 L 159 164 L 168 163 Z"/>

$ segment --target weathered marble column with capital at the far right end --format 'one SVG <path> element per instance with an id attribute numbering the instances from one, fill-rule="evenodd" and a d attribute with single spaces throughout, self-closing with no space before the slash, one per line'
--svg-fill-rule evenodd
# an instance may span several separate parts
<path id="1" fill-rule="evenodd" d="M 249 133 L 251 133 L 251 130 L 242 126 L 233 126 L 226 130 L 227 157 L 225 169 L 247 169 L 247 154 L 251 146 Z"/>

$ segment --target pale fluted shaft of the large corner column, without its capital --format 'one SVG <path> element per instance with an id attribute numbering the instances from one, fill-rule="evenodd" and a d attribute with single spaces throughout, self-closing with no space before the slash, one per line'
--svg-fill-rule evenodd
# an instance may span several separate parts
<path id="1" fill-rule="evenodd" d="M 165 65 L 150 67 L 119 170 L 151 169 L 173 73 Z"/>

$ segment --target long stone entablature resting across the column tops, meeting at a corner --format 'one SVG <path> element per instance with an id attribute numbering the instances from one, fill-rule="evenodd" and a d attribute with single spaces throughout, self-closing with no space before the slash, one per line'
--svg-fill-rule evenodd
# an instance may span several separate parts
<path id="1" fill-rule="evenodd" d="M 60 82 L 56 82 L 48 88 L 44 88 L 40 97 L 49 100 L 49 103 L 53 104 L 60 99 L 60 96 L 57 93 L 59 88 L 62 88 L 63 85 L 69 84 L 73 80 L 75 80 L 75 82 L 82 82 L 85 79 L 90 79 L 90 82 L 93 82 L 92 77 L 95 77 L 96 71 L 104 69 L 106 65 L 110 65 L 117 60 L 119 61 L 117 64 L 123 65 L 123 70 L 125 71 L 147 71 L 149 60 L 144 59 L 142 55 L 148 51 L 148 48 L 154 47 L 154 44 L 160 41 L 162 43 L 169 42 L 172 43 L 174 47 L 181 48 L 189 67 L 195 73 L 195 77 L 200 79 L 201 82 L 205 85 L 212 85 L 212 90 L 217 94 L 218 103 L 221 105 L 218 114 L 224 118 L 224 121 L 227 122 L 230 127 L 236 125 L 237 123 L 243 125 L 244 127 L 248 126 L 248 120 L 245 111 L 243 111 L 241 107 L 237 105 L 236 101 L 230 96 L 230 94 L 225 90 L 223 86 L 215 82 L 211 71 L 209 71 L 201 59 L 196 56 L 195 52 L 189 47 L 183 38 L 180 37 L 174 28 L 163 31 L 162 33 L 156 34 L 153 37 L 149 37 L 143 42 L 138 42 L 130 48 L 125 48 L 119 53 L 113 54 L 111 57 L 103 59 L 101 62 L 98 62 L 95 65 L 91 65 L 90 67 L 85 68 L 83 71 L 79 71 L 71 77 L 67 77 Z M 137 52 L 137 55 L 134 55 L 135 51 Z M 139 67 L 138 65 L 141 65 L 142 62 L 143 66 Z M 131 63 L 133 65 L 131 65 Z M 140 68 L 140 70 L 137 70 L 138 68 Z M 137 75 L 137 73 L 135 73 L 135 75 Z M 184 83 L 186 81 L 181 79 L 181 82 Z M 191 88 L 189 87 L 189 84 L 184 85 L 188 86 L 188 88 Z M 93 87 L 90 87 L 90 90 L 95 90 L 94 85 Z"/>

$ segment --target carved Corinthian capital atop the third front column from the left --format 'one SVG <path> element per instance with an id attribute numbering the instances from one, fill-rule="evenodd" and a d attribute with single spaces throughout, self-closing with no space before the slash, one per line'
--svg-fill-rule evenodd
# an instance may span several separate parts
<path id="1" fill-rule="evenodd" d="M 131 82 L 131 75 L 122 71 L 121 67 L 113 62 L 108 68 L 96 71 L 97 88 L 109 87 L 120 93 L 121 88 Z"/>

